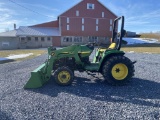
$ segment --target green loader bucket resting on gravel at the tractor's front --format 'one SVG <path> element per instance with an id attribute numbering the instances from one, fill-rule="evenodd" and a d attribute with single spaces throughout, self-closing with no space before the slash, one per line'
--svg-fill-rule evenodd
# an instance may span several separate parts
<path id="1" fill-rule="evenodd" d="M 45 82 L 49 80 L 50 77 L 46 77 L 45 73 L 46 64 L 42 64 L 37 69 L 31 72 L 31 77 L 24 86 L 24 88 L 39 88 Z"/>

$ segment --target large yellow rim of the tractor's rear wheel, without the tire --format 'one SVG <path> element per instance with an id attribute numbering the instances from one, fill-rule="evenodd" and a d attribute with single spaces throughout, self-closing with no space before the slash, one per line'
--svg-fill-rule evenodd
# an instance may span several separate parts
<path id="1" fill-rule="evenodd" d="M 128 75 L 128 68 L 125 64 L 119 63 L 113 66 L 112 68 L 112 76 L 116 80 L 123 80 Z"/>

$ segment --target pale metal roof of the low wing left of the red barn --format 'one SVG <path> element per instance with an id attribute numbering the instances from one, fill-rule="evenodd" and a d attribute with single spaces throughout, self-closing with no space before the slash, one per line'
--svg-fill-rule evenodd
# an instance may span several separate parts
<path id="1" fill-rule="evenodd" d="M 20 26 L 17 36 L 60 36 L 59 28 Z"/>

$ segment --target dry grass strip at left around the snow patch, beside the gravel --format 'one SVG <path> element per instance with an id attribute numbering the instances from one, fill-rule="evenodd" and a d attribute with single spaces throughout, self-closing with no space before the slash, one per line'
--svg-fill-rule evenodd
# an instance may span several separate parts
<path id="1" fill-rule="evenodd" d="M 33 55 L 30 55 L 25 58 L 18 58 L 15 59 L 16 61 L 21 61 L 21 60 L 27 60 L 31 59 L 34 57 L 37 57 L 39 55 L 47 53 L 46 50 L 0 50 L 0 57 L 8 57 L 9 55 L 20 55 L 20 54 L 28 54 L 28 53 L 33 53 Z"/>

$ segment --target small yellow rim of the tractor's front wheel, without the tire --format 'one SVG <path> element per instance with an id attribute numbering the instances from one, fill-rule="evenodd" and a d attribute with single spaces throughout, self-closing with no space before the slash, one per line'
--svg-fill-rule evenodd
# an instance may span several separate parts
<path id="1" fill-rule="evenodd" d="M 70 75 L 70 73 L 68 71 L 61 71 L 58 74 L 58 80 L 61 83 L 67 83 L 70 79 L 71 79 L 71 75 Z"/>

